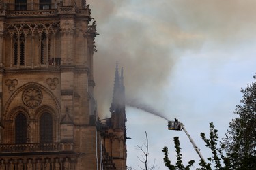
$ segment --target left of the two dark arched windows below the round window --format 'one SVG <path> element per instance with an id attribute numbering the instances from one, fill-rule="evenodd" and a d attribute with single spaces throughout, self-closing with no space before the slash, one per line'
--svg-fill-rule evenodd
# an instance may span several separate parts
<path id="1" fill-rule="evenodd" d="M 27 141 L 27 118 L 24 114 L 18 114 L 15 118 L 15 143 Z"/>

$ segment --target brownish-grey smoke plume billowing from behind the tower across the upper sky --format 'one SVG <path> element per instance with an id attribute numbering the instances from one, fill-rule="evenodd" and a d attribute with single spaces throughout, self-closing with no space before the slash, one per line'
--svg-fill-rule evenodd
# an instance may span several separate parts
<path id="1" fill-rule="evenodd" d="M 165 101 L 166 87 L 182 54 L 198 51 L 205 44 L 212 48 L 236 46 L 238 40 L 249 41 L 256 35 L 256 1 L 251 0 L 87 3 L 100 33 L 96 37 L 94 78 L 101 116 L 109 114 L 116 61 L 124 67 L 126 97 L 162 107 L 169 104 Z M 220 42 L 222 46 L 218 46 Z"/>

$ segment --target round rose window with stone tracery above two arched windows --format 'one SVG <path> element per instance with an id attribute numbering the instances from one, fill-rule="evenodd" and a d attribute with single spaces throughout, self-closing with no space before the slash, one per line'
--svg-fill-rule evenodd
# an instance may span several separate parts
<path id="1" fill-rule="evenodd" d="M 22 99 L 27 107 L 35 108 L 42 103 L 42 91 L 38 88 L 27 88 L 24 90 Z"/>

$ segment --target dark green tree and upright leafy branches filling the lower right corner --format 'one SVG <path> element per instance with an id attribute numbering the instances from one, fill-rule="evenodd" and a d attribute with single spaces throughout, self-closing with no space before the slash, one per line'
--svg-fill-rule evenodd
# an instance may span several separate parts
<path id="1" fill-rule="evenodd" d="M 256 79 L 256 75 L 253 77 Z M 229 123 L 226 137 L 221 142 L 221 148 L 218 146 L 218 130 L 214 124 L 210 123 L 209 139 L 205 133 L 201 133 L 201 138 L 205 146 L 212 151 L 212 157 L 208 158 L 210 163 L 200 160 L 198 169 L 211 170 L 211 163 L 214 163 L 214 169 L 226 170 L 253 170 L 256 169 L 256 83 L 252 83 L 245 89 L 241 89 L 243 98 L 242 105 L 237 105 L 235 114 L 238 115 Z M 176 165 L 172 165 L 168 158 L 168 148 L 163 148 L 165 166 L 169 169 L 184 169 L 182 164 L 182 154 L 180 154 L 180 143 L 178 137 L 175 137 L 175 148 L 177 152 Z M 223 154 L 226 153 L 226 156 Z M 192 164 L 193 165 L 193 164 Z M 191 165 L 191 166 L 192 166 Z M 190 166 L 186 168 L 189 169 Z M 185 168 L 185 169 L 186 169 Z"/>

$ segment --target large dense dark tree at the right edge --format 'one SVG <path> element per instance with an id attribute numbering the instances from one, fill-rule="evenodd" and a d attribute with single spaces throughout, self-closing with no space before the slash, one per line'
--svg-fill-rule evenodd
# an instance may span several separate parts
<path id="1" fill-rule="evenodd" d="M 256 169 L 256 83 L 241 92 L 242 105 L 237 105 L 234 112 L 238 118 L 229 123 L 223 144 L 234 169 Z"/>

